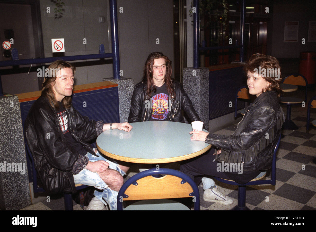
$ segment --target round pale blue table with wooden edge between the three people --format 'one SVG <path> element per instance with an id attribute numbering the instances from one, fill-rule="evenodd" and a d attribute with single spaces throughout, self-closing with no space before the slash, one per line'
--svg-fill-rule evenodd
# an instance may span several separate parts
<path id="1" fill-rule="evenodd" d="M 131 125 L 130 132 L 114 129 L 100 134 L 98 150 L 121 161 L 160 164 L 193 158 L 211 147 L 203 141 L 191 141 L 191 124 L 153 121 Z"/>

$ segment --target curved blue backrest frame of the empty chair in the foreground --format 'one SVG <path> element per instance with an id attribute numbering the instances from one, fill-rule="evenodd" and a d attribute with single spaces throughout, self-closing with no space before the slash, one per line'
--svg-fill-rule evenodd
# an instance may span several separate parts
<path id="1" fill-rule="evenodd" d="M 133 175 L 131 178 L 129 178 L 119 190 L 118 197 L 117 197 L 118 210 L 123 210 L 123 200 L 121 199 L 123 199 L 123 197 L 124 198 L 128 197 L 127 195 L 125 195 L 126 189 L 132 184 L 137 185 L 137 180 L 142 179 L 143 177 L 146 177 L 149 175 L 173 175 L 182 179 L 181 184 L 188 182 L 188 184 L 193 189 L 193 193 L 190 193 L 188 197 L 195 196 L 196 201 L 194 202 L 194 210 L 200 210 L 200 194 L 199 194 L 196 183 L 189 176 L 185 175 L 183 172 L 173 170 L 173 169 L 168 169 L 168 168 L 161 168 L 159 170 L 156 170 L 155 168 L 149 169 L 149 170 L 137 173 Z"/>

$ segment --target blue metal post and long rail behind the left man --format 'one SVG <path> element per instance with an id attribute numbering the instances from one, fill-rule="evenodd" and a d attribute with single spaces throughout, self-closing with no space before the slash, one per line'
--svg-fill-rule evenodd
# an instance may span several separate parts
<path id="1" fill-rule="evenodd" d="M 101 54 L 0 61 L 0 67 L 26 65 L 26 64 L 51 63 L 58 59 L 63 59 L 64 61 L 74 61 L 74 60 L 113 58 L 113 77 L 114 79 L 120 79 L 119 39 L 118 39 L 119 36 L 118 36 L 116 0 L 109 0 L 109 2 L 110 2 L 110 21 L 111 21 L 111 28 L 112 28 L 111 30 L 112 53 L 101 53 L 102 49 L 100 47 Z M 103 48 L 103 51 L 104 51 L 104 48 Z M 0 75 L 0 96 L 2 95 L 3 95 L 3 90 L 2 90 L 2 82 L 1 82 L 1 75 Z"/>

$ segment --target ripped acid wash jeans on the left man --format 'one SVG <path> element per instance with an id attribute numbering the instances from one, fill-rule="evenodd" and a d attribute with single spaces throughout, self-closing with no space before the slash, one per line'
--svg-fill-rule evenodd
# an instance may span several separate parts
<path id="1" fill-rule="evenodd" d="M 93 155 L 87 153 L 85 156 L 89 158 L 89 161 L 94 162 L 97 160 L 104 160 L 109 163 L 109 169 L 117 170 L 122 176 L 126 173 L 119 168 L 117 163 L 104 158 L 99 151 Z M 87 169 L 82 169 L 78 174 L 74 175 L 75 184 L 83 184 L 95 187 L 94 196 L 96 196 L 104 205 L 108 205 L 110 210 L 117 210 L 117 191 L 113 191 L 107 186 L 107 184 L 100 178 L 96 172 L 91 172 Z"/>

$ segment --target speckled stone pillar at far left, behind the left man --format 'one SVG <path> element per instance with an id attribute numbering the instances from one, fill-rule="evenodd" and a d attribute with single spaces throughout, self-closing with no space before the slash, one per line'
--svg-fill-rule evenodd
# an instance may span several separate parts
<path id="1" fill-rule="evenodd" d="M 0 208 L 31 205 L 21 110 L 17 96 L 0 98 Z"/>

